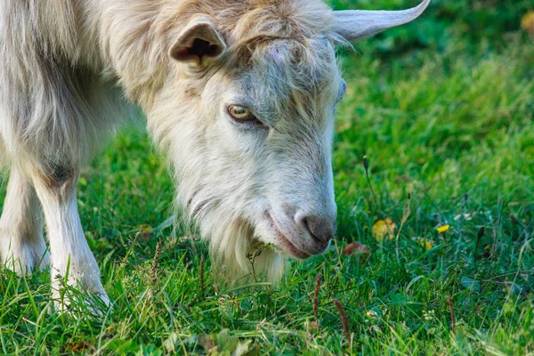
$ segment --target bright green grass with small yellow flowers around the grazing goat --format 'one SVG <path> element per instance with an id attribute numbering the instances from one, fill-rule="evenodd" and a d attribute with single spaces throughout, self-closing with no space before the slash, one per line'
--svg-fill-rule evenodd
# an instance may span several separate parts
<path id="1" fill-rule="evenodd" d="M 166 226 L 165 165 L 127 128 L 79 184 L 114 309 L 48 312 L 48 272 L 0 271 L 0 353 L 533 354 L 534 45 L 517 31 L 496 46 L 454 36 L 390 54 L 379 37 L 342 53 L 336 243 L 279 286 L 215 290 L 206 246 Z M 386 216 L 395 239 L 376 241 Z M 370 247 L 367 261 L 341 254 L 352 241 Z"/>

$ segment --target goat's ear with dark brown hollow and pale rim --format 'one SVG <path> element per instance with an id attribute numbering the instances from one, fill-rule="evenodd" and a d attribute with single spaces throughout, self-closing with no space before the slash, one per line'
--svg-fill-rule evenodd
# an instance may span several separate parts
<path id="1" fill-rule="evenodd" d="M 176 61 L 199 66 L 206 59 L 217 59 L 226 51 L 226 44 L 214 25 L 206 19 L 193 19 L 182 30 L 169 55 Z"/>

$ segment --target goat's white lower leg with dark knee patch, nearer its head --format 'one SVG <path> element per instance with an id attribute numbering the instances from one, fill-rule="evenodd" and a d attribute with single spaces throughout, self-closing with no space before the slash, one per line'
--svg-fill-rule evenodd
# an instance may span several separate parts
<path id="1" fill-rule="evenodd" d="M 100 269 L 87 245 L 77 211 L 78 177 L 77 171 L 62 166 L 54 166 L 50 174 L 33 176 L 48 231 L 52 291 L 58 311 L 70 304 L 61 292 L 63 280 L 87 295 L 100 297 L 109 305 L 108 295 L 101 284 Z"/>

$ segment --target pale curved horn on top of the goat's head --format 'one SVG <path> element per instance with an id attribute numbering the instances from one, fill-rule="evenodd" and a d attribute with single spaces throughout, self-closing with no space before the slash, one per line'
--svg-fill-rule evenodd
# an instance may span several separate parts
<path id="1" fill-rule="evenodd" d="M 387 28 L 393 28 L 416 20 L 430 0 L 424 0 L 418 6 L 402 11 L 363 11 L 348 10 L 336 11 L 334 29 L 338 35 L 348 41 L 357 41 L 361 38 L 376 35 Z"/>

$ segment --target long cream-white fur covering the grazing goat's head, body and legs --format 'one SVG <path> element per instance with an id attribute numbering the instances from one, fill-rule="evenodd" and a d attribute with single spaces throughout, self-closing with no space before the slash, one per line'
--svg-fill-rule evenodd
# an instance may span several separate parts
<path id="1" fill-rule="evenodd" d="M 344 13 L 344 23 L 352 15 L 361 12 Z M 11 176 L 2 261 L 20 272 L 47 263 L 42 207 L 54 297 L 70 263 L 69 283 L 106 300 L 76 185 L 125 116 L 117 108 L 132 104 L 168 152 L 177 206 L 228 279 L 246 276 L 247 255 L 264 244 L 274 249 L 256 258 L 255 271 L 269 279 L 279 279 L 285 255 L 323 252 L 335 229 L 330 150 L 345 88 L 335 46 L 358 31 L 354 24 L 341 36 L 319 0 L 4 0 L 0 165 Z M 262 125 L 232 120 L 230 105 Z"/>

